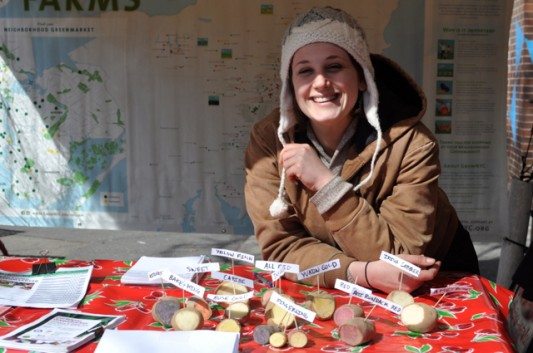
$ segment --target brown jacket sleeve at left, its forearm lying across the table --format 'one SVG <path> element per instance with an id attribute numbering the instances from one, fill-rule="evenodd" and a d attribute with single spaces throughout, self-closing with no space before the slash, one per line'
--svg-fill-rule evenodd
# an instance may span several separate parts
<path id="1" fill-rule="evenodd" d="M 277 196 L 280 184 L 275 130 L 256 125 L 245 153 L 247 212 L 265 260 L 295 263 L 300 271 L 333 259 L 340 268 L 320 275 L 323 286 L 333 287 L 336 278 L 345 279 L 348 265 L 354 261 L 338 248 L 311 236 L 292 212 L 282 219 L 272 218 L 269 207 Z"/>

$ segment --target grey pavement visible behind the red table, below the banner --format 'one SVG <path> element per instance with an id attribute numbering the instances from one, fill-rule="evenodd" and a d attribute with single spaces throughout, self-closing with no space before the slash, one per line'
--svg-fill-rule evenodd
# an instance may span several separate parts
<path id="1" fill-rule="evenodd" d="M 209 255 L 211 248 L 222 248 L 260 258 L 255 237 L 232 234 L 0 226 L 0 240 L 15 256 L 137 260 L 143 255 Z M 496 281 L 500 243 L 474 242 L 474 247 L 481 275 Z"/>

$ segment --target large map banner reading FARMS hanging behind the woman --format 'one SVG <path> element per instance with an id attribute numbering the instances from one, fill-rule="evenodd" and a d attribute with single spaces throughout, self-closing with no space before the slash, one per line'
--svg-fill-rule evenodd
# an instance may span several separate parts
<path id="1" fill-rule="evenodd" d="M 252 234 L 244 148 L 312 5 L 422 82 L 423 0 L 0 0 L 0 224 Z"/>

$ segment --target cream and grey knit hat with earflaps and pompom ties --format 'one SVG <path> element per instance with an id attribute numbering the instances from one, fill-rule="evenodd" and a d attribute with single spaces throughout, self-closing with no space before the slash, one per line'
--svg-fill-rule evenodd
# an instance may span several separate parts
<path id="1" fill-rule="evenodd" d="M 294 53 L 311 43 L 332 43 L 346 50 L 361 66 L 367 89 L 363 93 L 364 112 L 368 123 L 376 129 L 376 149 L 370 162 L 370 173 L 354 187 L 357 191 L 366 184 L 374 172 L 375 161 L 381 145 L 381 126 L 378 116 L 378 90 L 374 81 L 374 68 L 370 61 L 368 45 L 363 29 L 348 13 L 332 7 L 314 7 L 298 16 L 285 32 L 281 48 L 281 93 L 280 121 L 278 138 L 283 145 L 287 143 L 284 133 L 296 124 L 296 111 L 293 106 L 293 93 L 289 77 L 289 67 Z M 278 196 L 270 205 L 270 215 L 281 218 L 288 213 L 285 194 L 285 168 L 281 173 Z"/>

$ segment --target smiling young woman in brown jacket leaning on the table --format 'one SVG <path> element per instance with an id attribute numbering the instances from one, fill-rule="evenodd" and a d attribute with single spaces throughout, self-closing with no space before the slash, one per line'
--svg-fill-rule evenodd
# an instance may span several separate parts
<path id="1" fill-rule="evenodd" d="M 246 150 L 246 205 L 262 255 L 389 292 L 400 272 L 382 250 L 421 267 L 479 272 L 470 235 L 438 186 L 437 141 L 423 125 L 424 94 L 391 60 L 370 55 L 353 17 L 313 8 L 287 29 L 280 107 Z M 270 205 L 270 207 L 268 207 Z"/>

